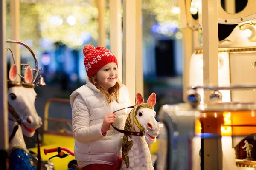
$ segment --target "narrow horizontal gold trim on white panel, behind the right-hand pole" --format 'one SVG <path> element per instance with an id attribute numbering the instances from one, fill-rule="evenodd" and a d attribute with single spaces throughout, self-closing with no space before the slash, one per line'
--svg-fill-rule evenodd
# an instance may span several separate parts
<path id="1" fill-rule="evenodd" d="M 237 53 L 256 53 L 256 47 L 246 47 L 246 48 L 218 48 L 218 52 L 228 52 L 230 54 Z M 203 49 L 196 49 L 195 54 L 203 54 Z"/>

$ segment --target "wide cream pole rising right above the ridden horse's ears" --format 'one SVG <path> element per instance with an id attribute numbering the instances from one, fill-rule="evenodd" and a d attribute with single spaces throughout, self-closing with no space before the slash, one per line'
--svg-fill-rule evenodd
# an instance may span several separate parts
<path id="1" fill-rule="evenodd" d="M 136 1 L 123 0 L 123 83 L 129 89 L 132 105 L 136 94 Z"/>

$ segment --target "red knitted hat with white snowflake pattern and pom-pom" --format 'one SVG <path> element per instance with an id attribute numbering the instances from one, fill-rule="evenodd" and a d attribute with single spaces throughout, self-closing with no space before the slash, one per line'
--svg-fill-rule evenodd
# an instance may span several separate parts
<path id="1" fill-rule="evenodd" d="M 117 65 L 116 56 L 105 47 L 95 48 L 93 45 L 85 45 L 84 53 L 84 66 L 87 76 L 90 77 L 96 74 L 106 64 L 114 62 Z"/>

